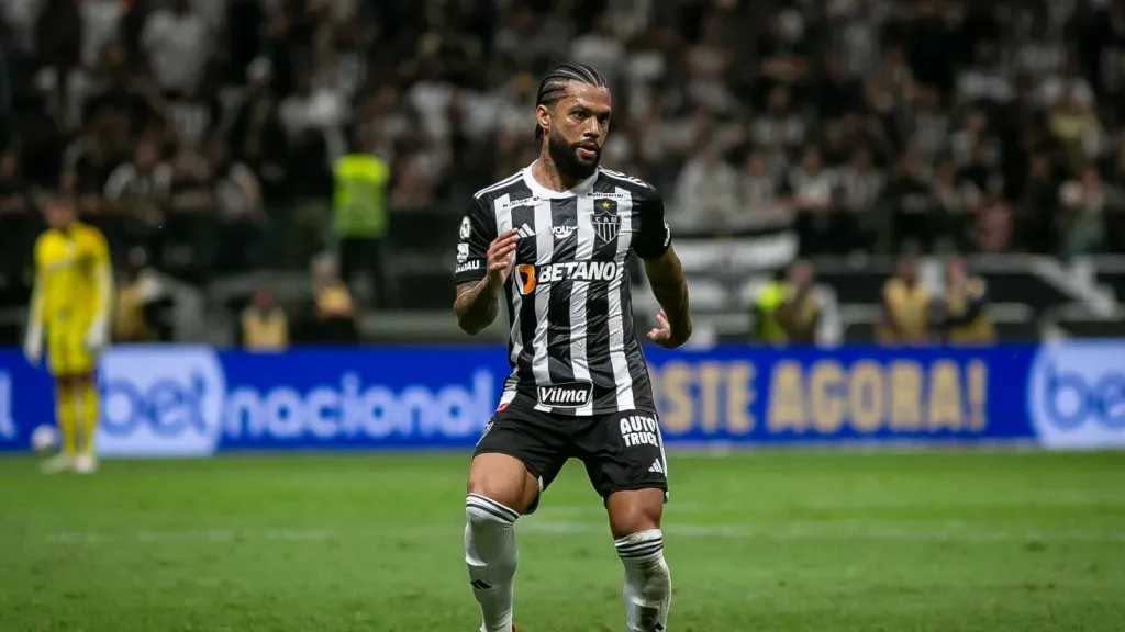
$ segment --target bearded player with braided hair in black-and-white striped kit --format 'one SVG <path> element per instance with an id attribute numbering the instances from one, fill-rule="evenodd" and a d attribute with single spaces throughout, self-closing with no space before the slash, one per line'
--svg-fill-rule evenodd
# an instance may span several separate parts
<path id="1" fill-rule="evenodd" d="M 482 630 L 513 630 L 515 522 L 575 457 L 609 512 L 628 629 L 662 631 L 672 595 L 660 532 L 667 461 L 633 325 L 630 253 L 663 308 L 648 332 L 662 346 L 691 335 L 687 286 L 659 193 L 597 165 L 611 114 L 602 75 L 562 64 L 536 101 L 539 159 L 474 196 L 457 246 L 460 327 L 492 324 L 501 296 L 511 325 L 512 373 L 469 467 L 469 580 Z"/>

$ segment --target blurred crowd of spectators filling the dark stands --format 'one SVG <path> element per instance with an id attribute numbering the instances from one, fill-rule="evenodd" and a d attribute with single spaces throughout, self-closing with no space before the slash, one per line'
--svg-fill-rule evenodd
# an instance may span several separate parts
<path id="1" fill-rule="evenodd" d="M 1122 247 L 1122 0 L 3 0 L 0 247 L 65 191 L 188 280 L 304 267 L 341 238 L 338 159 L 388 166 L 392 216 L 459 215 L 534 159 L 564 60 L 613 88 L 603 164 L 682 231 Z"/>

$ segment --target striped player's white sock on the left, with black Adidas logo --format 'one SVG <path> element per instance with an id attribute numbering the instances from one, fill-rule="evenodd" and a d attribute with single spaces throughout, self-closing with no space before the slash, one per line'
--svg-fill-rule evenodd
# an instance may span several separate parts
<path id="1" fill-rule="evenodd" d="M 515 521 L 520 514 L 490 498 L 469 494 L 465 517 L 465 563 L 472 595 L 480 604 L 482 631 L 511 632 Z"/>

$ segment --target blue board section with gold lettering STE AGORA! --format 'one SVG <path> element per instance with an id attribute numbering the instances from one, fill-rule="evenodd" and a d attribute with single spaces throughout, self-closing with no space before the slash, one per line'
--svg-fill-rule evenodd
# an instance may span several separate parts
<path id="1" fill-rule="evenodd" d="M 728 347 L 656 355 L 652 380 L 669 443 L 1018 439 L 1034 353 Z"/>

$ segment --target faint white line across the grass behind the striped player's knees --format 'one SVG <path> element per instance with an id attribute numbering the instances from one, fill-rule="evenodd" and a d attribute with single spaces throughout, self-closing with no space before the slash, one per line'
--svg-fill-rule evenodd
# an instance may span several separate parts
<path id="1" fill-rule="evenodd" d="M 555 535 L 609 536 L 604 522 L 568 522 L 531 516 L 521 520 L 520 533 Z M 413 527 L 374 526 L 371 530 L 340 531 L 333 529 L 276 529 L 276 530 L 141 530 L 126 532 L 66 531 L 46 534 L 56 544 L 174 544 L 174 543 L 230 543 L 230 542 L 317 542 L 327 540 L 402 540 L 413 538 L 457 538 L 458 524 L 428 524 Z M 972 523 L 945 522 L 919 526 L 892 522 L 828 522 L 782 524 L 665 524 L 664 532 L 680 538 L 703 540 L 746 541 L 872 541 L 872 542 L 1074 542 L 1125 543 L 1123 531 L 1089 530 L 997 530 L 980 529 Z"/>

